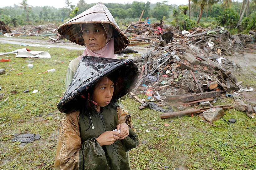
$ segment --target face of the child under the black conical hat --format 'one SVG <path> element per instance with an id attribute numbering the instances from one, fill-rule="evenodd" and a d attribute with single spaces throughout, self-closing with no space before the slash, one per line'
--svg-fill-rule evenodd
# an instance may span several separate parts
<path id="1" fill-rule="evenodd" d="M 96 88 L 93 92 L 93 101 L 98 103 L 98 106 L 107 106 L 114 93 L 114 83 L 109 78 L 104 77 L 99 83 L 96 84 Z"/>

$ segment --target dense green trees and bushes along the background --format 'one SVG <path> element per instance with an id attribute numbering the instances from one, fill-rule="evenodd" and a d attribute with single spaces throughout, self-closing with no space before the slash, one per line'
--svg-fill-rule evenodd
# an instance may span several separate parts
<path id="1" fill-rule="evenodd" d="M 211 1 L 211 3 L 208 3 L 207 0 L 191 0 L 190 2 L 190 17 L 188 5 L 169 5 L 167 1 L 157 2 L 156 4 L 134 1 L 125 4 L 105 3 L 105 5 L 121 27 L 130 22 L 138 21 L 142 10 L 144 10 L 142 20 L 145 20 L 146 17 L 150 18 L 151 23 L 165 20 L 168 24 L 180 27 L 181 29 L 191 29 L 199 25 L 219 25 L 227 27 L 228 29 L 234 29 L 239 20 L 242 7 L 242 2 L 233 2 L 231 0 L 215 0 Z M 203 2 L 207 3 L 203 4 Z M 50 6 L 31 7 L 27 0 L 22 0 L 19 5 L 0 8 L 0 20 L 13 27 L 48 22 L 61 24 L 88 8 L 91 8 L 95 4 L 96 3 L 87 4 L 84 0 L 80 0 L 77 5 L 73 5 L 72 1 L 66 0 L 65 8 Z M 196 24 L 195 21 L 200 17 L 202 5 L 204 6 L 200 22 Z M 250 29 L 256 29 L 255 10 L 256 0 L 250 0 L 249 8 L 246 14 L 244 14 L 240 27 L 236 29 L 237 31 L 248 32 Z M 244 30 L 244 28 L 246 28 L 246 30 Z"/>

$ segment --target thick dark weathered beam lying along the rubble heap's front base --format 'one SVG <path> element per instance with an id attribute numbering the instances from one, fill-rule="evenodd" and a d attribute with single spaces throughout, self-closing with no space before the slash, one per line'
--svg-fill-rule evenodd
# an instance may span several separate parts
<path id="1" fill-rule="evenodd" d="M 212 91 L 212 92 L 205 92 L 205 93 L 198 93 L 198 94 L 187 94 L 187 95 L 172 95 L 172 96 L 166 96 L 165 98 L 167 100 L 171 100 L 173 102 L 192 102 L 195 100 L 201 100 L 205 98 L 216 98 L 218 96 L 221 96 L 221 93 L 224 91 L 218 90 L 218 91 Z"/>

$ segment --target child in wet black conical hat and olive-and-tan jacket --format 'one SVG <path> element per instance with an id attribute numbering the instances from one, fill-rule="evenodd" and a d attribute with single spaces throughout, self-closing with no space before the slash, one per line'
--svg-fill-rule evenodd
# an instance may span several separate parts
<path id="1" fill-rule="evenodd" d="M 56 169 L 130 169 L 126 152 L 138 146 L 138 136 L 130 114 L 116 101 L 134 87 L 137 78 L 132 60 L 81 59 L 58 104 L 67 114 L 61 122 Z"/>

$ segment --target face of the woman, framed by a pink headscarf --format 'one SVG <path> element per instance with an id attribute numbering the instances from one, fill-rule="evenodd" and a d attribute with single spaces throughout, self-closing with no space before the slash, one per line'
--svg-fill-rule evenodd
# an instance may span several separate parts
<path id="1" fill-rule="evenodd" d="M 89 50 L 96 51 L 105 46 L 107 33 L 100 23 L 83 24 L 83 39 Z"/>

